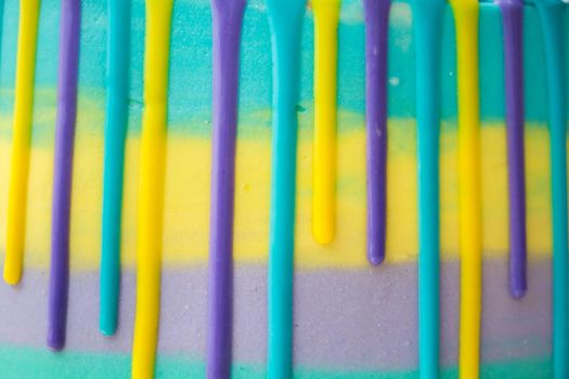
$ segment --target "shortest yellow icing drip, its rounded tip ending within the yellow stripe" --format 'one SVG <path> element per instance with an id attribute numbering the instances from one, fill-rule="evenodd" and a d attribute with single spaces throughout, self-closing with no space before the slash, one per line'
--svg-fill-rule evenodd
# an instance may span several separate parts
<path id="1" fill-rule="evenodd" d="M 314 190 L 312 233 L 329 244 L 336 233 L 336 94 L 340 0 L 313 0 Z"/>

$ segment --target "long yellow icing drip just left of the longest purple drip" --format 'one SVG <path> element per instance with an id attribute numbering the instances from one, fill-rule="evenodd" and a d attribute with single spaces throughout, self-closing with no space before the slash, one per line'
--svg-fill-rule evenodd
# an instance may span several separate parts
<path id="1" fill-rule="evenodd" d="M 146 0 L 133 379 L 152 378 L 156 361 L 172 6 L 173 0 Z"/>

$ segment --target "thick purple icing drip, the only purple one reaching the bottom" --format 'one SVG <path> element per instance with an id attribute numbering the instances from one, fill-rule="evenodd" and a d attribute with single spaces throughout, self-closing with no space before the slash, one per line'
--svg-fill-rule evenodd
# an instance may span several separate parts
<path id="1" fill-rule="evenodd" d="M 231 376 L 240 43 L 246 0 L 212 0 L 214 123 L 207 377 Z"/>

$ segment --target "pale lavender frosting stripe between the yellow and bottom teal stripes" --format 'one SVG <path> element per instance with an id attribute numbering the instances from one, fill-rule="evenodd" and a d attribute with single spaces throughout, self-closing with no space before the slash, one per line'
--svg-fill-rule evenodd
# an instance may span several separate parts
<path id="1" fill-rule="evenodd" d="M 482 360 L 494 362 L 551 354 L 551 261 L 528 266 L 529 290 L 513 299 L 508 264 L 483 266 Z M 267 358 L 267 267 L 235 266 L 234 362 Z M 405 369 L 417 365 L 417 270 L 415 263 L 354 271 L 295 273 L 295 364 L 331 368 Z M 207 267 L 166 270 L 163 275 L 159 354 L 205 358 Z M 0 286 L 0 343 L 42 344 L 46 274 L 27 269 L 22 286 Z M 121 280 L 117 335 L 98 331 L 99 274 L 70 278 L 66 349 L 129 352 L 132 342 L 135 277 Z M 456 363 L 460 267 L 441 264 L 441 363 Z M 14 328 L 25 325 L 25 328 Z"/>

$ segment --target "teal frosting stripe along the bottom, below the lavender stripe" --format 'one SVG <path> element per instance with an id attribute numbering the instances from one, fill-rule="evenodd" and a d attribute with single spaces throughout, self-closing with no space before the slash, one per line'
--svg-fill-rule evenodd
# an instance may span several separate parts
<path id="1" fill-rule="evenodd" d="M 52 353 L 46 349 L 0 348 L 0 367 L 3 379 L 101 379 L 129 378 L 130 356 L 85 352 Z M 294 379 L 412 379 L 418 371 L 342 370 L 315 367 L 297 367 Z M 456 366 L 445 367 L 442 379 L 457 378 Z M 482 364 L 482 379 L 551 378 L 553 364 L 549 356 Z M 232 379 L 264 379 L 267 370 L 259 364 L 234 364 Z M 184 356 L 158 356 L 156 379 L 205 378 L 205 362 Z"/>

